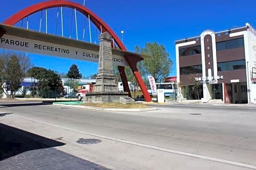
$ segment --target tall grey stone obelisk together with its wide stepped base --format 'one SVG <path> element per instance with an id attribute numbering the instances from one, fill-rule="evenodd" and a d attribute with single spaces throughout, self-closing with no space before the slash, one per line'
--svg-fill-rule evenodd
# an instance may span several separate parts
<path id="1" fill-rule="evenodd" d="M 93 92 L 89 92 L 83 96 L 83 102 L 119 102 L 119 98 L 127 97 L 128 92 L 118 91 L 118 85 L 115 83 L 111 47 L 112 36 L 109 32 L 104 32 L 100 35 L 99 39 L 99 68 L 96 76 L 96 84 L 93 86 Z"/>

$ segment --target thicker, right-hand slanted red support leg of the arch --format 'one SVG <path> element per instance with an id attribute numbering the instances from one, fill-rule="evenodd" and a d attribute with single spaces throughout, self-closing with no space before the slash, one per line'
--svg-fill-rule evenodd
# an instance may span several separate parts
<path id="1" fill-rule="evenodd" d="M 150 97 L 150 94 L 148 94 L 147 88 L 145 86 L 145 83 L 143 82 L 143 80 L 142 80 L 142 78 L 140 76 L 140 72 L 138 71 L 138 68 L 137 68 L 137 62 L 140 61 L 141 59 L 134 58 L 134 57 L 133 58 L 126 57 L 126 60 L 129 63 L 129 65 L 130 65 L 130 67 L 131 67 L 131 69 L 133 71 L 133 74 L 134 74 L 134 76 L 135 76 L 135 78 L 136 78 L 136 80 L 137 80 L 137 82 L 138 82 L 138 84 L 140 86 L 140 89 L 141 89 L 141 91 L 142 91 L 142 93 L 144 95 L 145 101 L 146 102 L 151 102 L 152 99 Z"/>

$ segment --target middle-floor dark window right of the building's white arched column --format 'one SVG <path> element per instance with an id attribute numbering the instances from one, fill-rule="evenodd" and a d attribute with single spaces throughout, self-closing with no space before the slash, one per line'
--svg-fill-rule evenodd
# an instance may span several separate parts
<path id="1" fill-rule="evenodd" d="M 245 69 L 245 60 L 226 61 L 217 63 L 218 71 L 232 71 L 237 69 Z"/>

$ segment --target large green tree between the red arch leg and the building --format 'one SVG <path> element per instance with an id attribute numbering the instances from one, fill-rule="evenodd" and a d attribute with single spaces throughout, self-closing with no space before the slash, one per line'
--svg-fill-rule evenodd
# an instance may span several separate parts
<path id="1" fill-rule="evenodd" d="M 151 56 L 139 62 L 137 65 L 144 79 L 147 75 L 152 75 L 156 82 L 161 82 L 172 71 L 173 61 L 169 58 L 169 54 L 163 45 L 159 45 L 156 42 L 146 43 L 145 47 L 141 49 L 136 46 L 135 51 Z"/>

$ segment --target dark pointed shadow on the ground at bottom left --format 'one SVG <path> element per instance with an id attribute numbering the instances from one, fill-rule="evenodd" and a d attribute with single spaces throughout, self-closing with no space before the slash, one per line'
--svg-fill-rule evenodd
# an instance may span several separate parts
<path id="1" fill-rule="evenodd" d="M 64 144 L 0 124 L 0 161 L 26 151 L 58 147 Z"/>

